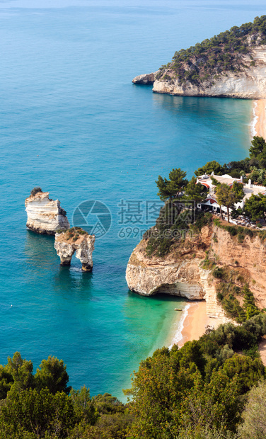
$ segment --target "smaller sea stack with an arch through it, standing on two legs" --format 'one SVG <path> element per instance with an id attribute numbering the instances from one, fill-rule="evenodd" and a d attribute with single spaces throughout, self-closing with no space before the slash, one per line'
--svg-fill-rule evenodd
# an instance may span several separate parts
<path id="1" fill-rule="evenodd" d="M 71 258 L 76 253 L 82 263 L 83 271 L 93 269 L 93 250 L 95 236 L 89 235 L 80 227 L 73 227 L 67 232 L 55 234 L 54 249 L 60 257 L 62 266 L 70 266 Z"/>

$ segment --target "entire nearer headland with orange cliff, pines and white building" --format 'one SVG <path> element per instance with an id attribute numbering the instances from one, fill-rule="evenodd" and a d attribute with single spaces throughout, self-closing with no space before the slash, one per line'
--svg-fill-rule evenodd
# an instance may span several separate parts
<path id="1" fill-rule="evenodd" d="M 241 323 L 264 312 L 265 151 L 265 140 L 254 137 L 249 157 L 223 166 L 211 161 L 195 171 L 199 179 L 187 181 L 181 169 L 158 176 L 157 195 L 165 205 L 129 258 L 130 290 L 204 299 L 207 315 L 221 321 Z M 243 198 L 243 208 L 236 209 Z"/>

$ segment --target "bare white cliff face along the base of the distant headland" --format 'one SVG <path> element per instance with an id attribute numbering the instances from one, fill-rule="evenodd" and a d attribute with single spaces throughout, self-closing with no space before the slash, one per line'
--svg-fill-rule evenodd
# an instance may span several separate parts
<path id="1" fill-rule="evenodd" d="M 243 55 L 243 62 L 250 66 L 252 55 L 255 66 L 246 67 L 243 72 L 225 72 L 216 78 L 208 79 L 199 86 L 186 81 L 181 85 L 175 72 L 169 67 L 163 76 L 154 81 L 155 93 L 168 93 L 178 96 L 226 96 L 231 98 L 266 98 L 266 46 L 253 48 L 251 54 Z M 157 73 L 157 72 L 156 72 Z M 151 74 L 149 74 L 151 75 Z M 141 78 L 140 75 L 137 78 Z M 166 76 L 167 79 L 163 79 Z M 135 84 L 147 84 L 133 79 Z M 135 81 L 136 80 L 136 81 Z"/>

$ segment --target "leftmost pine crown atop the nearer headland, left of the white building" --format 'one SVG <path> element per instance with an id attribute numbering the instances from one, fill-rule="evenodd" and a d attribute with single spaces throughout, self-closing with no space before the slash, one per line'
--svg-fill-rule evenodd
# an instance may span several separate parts
<path id="1" fill-rule="evenodd" d="M 158 186 L 157 195 L 161 200 L 173 200 L 173 198 L 178 197 L 180 190 L 187 184 L 187 179 L 185 176 L 187 173 L 182 171 L 180 168 L 172 169 L 169 173 L 169 179 L 158 176 L 156 180 L 156 185 Z"/>

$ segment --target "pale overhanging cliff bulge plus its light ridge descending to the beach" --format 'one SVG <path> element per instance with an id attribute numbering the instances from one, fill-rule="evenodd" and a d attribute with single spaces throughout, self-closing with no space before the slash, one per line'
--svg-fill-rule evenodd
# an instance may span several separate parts
<path id="1" fill-rule="evenodd" d="M 226 323 L 224 309 L 216 299 L 216 283 L 211 270 L 203 270 L 206 249 L 212 246 L 212 227 L 203 227 L 199 236 L 187 235 L 165 257 L 146 253 L 148 242 L 142 239 L 132 252 L 126 270 L 129 290 L 150 296 L 165 293 L 187 300 L 205 300 L 207 316 Z"/>

